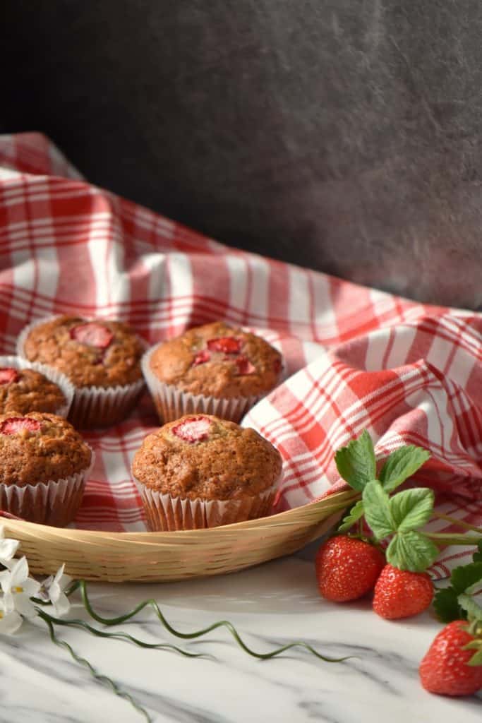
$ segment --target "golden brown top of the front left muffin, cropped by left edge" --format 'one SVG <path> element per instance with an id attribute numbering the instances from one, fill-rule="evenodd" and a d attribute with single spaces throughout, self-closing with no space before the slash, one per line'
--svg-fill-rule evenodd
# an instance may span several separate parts
<path id="1" fill-rule="evenodd" d="M 56 414 L 0 414 L 0 482 L 25 484 L 63 479 L 87 469 L 90 448 L 72 424 Z"/>

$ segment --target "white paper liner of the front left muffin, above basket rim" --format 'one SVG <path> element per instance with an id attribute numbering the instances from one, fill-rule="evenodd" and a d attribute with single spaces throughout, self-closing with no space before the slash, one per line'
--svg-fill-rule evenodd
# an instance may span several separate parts
<path id="1" fill-rule="evenodd" d="M 89 449 L 90 465 L 69 477 L 25 484 L 24 487 L 0 483 L 0 509 L 43 525 L 64 527 L 72 522 L 82 502 L 85 484 L 95 461 L 95 453 Z"/>

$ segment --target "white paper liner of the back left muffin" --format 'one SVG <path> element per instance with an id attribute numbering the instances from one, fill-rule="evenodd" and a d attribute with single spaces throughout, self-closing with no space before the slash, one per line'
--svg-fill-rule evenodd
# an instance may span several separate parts
<path id="1" fill-rule="evenodd" d="M 36 326 L 58 318 L 59 315 L 38 319 L 27 325 L 17 340 L 17 354 L 23 359 L 25 356 L 25 340 Z M 90 321 L 90 319 L 86 319 Z M 141 341 L 144 341 L 141 339 Z M 47 364 L 43 366 L 48 367 Z M 53 367 L 48 367 L 53 369 Z M 71 382 L 72 383 L 72 382 Z M 69 411 L 69 422 L 78 429 L 95 429 L 97 427 L 110 427 L 119 424 L 136 405 L 145 386 L 143 378 L 132 384 L 118 385 L 116 387 L 76 387 L 74 398 Z"/>

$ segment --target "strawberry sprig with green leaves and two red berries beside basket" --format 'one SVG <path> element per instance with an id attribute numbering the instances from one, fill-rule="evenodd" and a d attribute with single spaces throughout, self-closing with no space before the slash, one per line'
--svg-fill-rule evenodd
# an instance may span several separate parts
<path id="1" fill-rule="evenodd" d="M 392 494 L 408 477 L 415 474 L 429 457 L 427 450 L 407 445 L 392 452 L 377 473 L 374 445 L 366 431 L 337 451 L 337 470 L 350 487 L 361 493 L 361 500 L 358 500 L 343 518 L 337 530 L 338 536 L 333 538 L 337 540 L 334 543 L 337 555 L 331 555 L 327 562 L 324 561 L 330 550 L 330 540 L 319 550 L 317 578 L 322 595 L 332 600 L 349 600 L 356 599 L 373 588 L 374 583 L 369 583 L 367 576 L 366 589 L 361 586 L 358 590 L 353 583 L 353 591 L 350 592 L 349 570 L 356 568 L 352 560 L 345 560 L 343 549 L 351 549 L 354 540 L 351 538 L 351 547 L 348 542 L 340 542 L 340 533 L 352 531 L 350 534 L 353 535 L 353 528 L 358 528 L 358 534 L 354 537 L 361 538 L 363 525 L 366 524 L 371 532 L 363 536 L 363 543 L 361 540 L 358 542 L 365 545 L 368 542 L 387 544 L 387 565 L 380 570 L 381 575 L 375 586 L 375 612 L 389 620 L 395 620 L 418 615 L 429 607 L 434 589 L 425 570 L 439 554 L 436 542 L 476 544 L 481 539 L 480 536 L 469 537 L 467 534 L 444 535 L 420 531 L 435 514 L 433 490 L 416 487 Z M 447 520 L 457 522 L 452 518 Z M 466 526 L 465 523 L 462 524 Z M 478 528 L 468 527 L 482 533 Z M 357 581 L 358 577 L 357 573 Z M 339 588 L 343 589 L 343 598 Z"/>

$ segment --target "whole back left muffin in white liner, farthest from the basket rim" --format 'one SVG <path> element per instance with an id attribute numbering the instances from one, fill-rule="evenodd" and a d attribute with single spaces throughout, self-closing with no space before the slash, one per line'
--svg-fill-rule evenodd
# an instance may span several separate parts
<path id="1" fill-rule="evenodd" d="M 25 328 L 17 350 L 69 378 L 75 388 L 69 420 L 79 428 L 121 422 L 144 387 L 145 344 L 118 321 L 53 317 Z"/>

